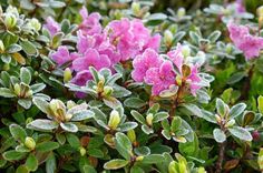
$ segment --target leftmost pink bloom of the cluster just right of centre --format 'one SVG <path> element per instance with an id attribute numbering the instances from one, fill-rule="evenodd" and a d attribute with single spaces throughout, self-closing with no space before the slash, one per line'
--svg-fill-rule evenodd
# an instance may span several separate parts
<path id="1" fill-rule="evenodd" d="M 134 71 L 132 72 L 132 78 L 136 82 L 143 82 L 146 72 L 150 68 L 158 68 L 163 60 L 153 49 L 146 49 L 142 55 L 137 55 L 134 61 Z"/>

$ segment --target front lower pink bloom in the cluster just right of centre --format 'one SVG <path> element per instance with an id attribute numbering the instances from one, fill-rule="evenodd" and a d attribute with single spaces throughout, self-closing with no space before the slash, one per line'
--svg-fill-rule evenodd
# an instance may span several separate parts
<path id="1" fill-rule="evenodd" d="M 171 61 L 164 61 L 159 68 L 150 68 L 146 72 L 145 82 L 152 88 L 152 94 L 158 95 L 167 90 L 169 85 L 175 84 L 175 72 Z"/>

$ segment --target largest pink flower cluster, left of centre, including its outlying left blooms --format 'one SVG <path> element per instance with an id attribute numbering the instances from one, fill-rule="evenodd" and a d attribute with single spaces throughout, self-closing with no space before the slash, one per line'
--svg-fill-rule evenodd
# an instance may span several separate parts
<path id="1" fill-rule="evenodd" d="M 100 14 L 97 12 L 88 13 L 86 8 L 80 10 L 82 18 L 77 31 L 77 52 L 69 52 L 67 47 L 60 45 L 51 54 L 58 65 L 72 62 L 70 69 L 76 72 L 71 80 L 72 83 L 85 85 L 91 79 L 89 67 L 96 70 L 134 59 L 142 54 L 146 49 L 158 50 L 160 35 L 150 34 L 140 20 L 114 20 L 105 28 L 100 24 Z M 52 18 L 47 18 L 45 28 L 51 35 L 60 31 L 60 26 Z"/>

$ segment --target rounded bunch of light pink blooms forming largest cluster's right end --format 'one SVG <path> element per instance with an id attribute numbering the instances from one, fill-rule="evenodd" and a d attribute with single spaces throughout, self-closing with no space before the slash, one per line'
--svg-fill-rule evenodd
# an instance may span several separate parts
<path id="1" fill-rule="evenodd" d="M 134 59 L 147 48 L 156 51 L 159 48 L 159 34 L 152 37 L 150 31 L 138 19 L 129 21 L 124 18 L 111 21 L 105 32 L 108 33 L 110 43 L 116 47 L 121 61 Z"/>

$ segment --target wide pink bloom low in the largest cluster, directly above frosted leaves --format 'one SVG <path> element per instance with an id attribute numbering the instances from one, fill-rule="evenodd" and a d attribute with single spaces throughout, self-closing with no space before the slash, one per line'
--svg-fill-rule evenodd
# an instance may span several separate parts
<path id="1" fill-rule="evenodd" d="M 105 54 L 99 54 L 96 49 L 88 49 L 85 54 L 72 62 L 72 69 L 77 72 L 88 70 L 94 67 L 97 70 L 101 68 L 109 68 L 110 60 Z"/>

